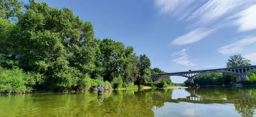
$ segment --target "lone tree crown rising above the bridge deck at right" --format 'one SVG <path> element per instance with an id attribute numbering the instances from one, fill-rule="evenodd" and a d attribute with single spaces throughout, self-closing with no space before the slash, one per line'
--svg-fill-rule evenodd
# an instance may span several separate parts
<path id="1" fill-rule="evenodd" d="M 226 62 L 227 68 L 251 65 L 251 60 L 242 57 L 241 54 L 229 56 L 229 58 L 230 59 L 227 60 L 228 62 Z"/>

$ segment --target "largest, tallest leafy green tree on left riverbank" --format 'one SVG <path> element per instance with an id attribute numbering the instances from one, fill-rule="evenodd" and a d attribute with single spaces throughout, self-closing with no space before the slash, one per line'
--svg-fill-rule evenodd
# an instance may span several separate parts
<path id="1" fill-rule="evenodd" d="M 50 85 L 74 84 L 95 67 L 97 44 L 90 22 L 80 20 L 69 8 L 49 7 L 45 2 L 31 0 L 25 9 L 0 41 L 5 45 L 0 49 L 1 60 L 6 60 L 2 66 L 16 62 L 24 71 L 47 76 L 45 83 Z"/>

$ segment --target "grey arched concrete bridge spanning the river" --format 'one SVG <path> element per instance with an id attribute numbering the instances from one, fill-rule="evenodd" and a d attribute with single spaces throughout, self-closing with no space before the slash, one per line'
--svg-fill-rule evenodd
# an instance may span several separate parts
<path id="1" fill-rule="evenodd" d="M 159 82 L 160 79 L 168 76 L 182 76 L 189 79 L 190 83 L 194 84 L 193 78 L 205 73 L 228 73 L 237 76 L 237 82 L 245 81 L 245 74 L 255 71 L 256 65 L 252 66 L 240 66 L 234 68 L 209 68 L 209 69 L 196 69 L 187 71 L 174 71 L 169 73 L 151 74 L 151 79 L 154 82 Z"/>

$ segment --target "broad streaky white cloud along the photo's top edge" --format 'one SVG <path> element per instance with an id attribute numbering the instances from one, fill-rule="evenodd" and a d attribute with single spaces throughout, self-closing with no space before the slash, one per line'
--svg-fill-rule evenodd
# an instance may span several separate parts
<path id="1" fill-rule="evenodd" d="M 211 23 L 225 14 L 234 14 L 254 4 L 256 0 L 155 0 L 159 13 L 179 16 L 178 20 L 196 19 L 200 24 Z"/>

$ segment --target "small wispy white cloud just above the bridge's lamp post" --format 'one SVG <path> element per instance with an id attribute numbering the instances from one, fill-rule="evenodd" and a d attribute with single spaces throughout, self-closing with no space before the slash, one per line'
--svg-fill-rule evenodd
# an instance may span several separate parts
<path id="1" fill-rule="evenodd" d="M 196 65 L 196 64 L 191 63 L 191 61 L 188 60 L 189 56 L 186 54 L 187 49 L 188 48 L 182 49 L 181 51 L 175 51 L 174 53 L 172 53 L 171 56 L 181 55 L 181 57 L 178 57 L 172 61 L 175 63 L 181 64 L 181 65 L 187 65 L 187 66 L 189 66 L 189 64 L 190 64 L 190 66 Z"/>

